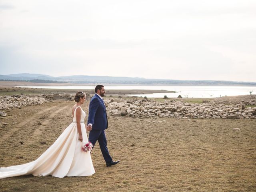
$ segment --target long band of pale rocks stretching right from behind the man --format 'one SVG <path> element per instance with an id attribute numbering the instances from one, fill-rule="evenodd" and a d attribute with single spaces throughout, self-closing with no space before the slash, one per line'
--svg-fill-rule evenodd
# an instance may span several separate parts
<path id="1" fill-rule="evenodd" d="M 222 103 L 206 102 L 202 104 L 183 101 L 166 100 L 106 100 L 106 109 L 111 116 L 127 116 L 139 118 L 172 117 L 172 118 L 230 118 L 256 119 L 256 107 L 245 104 L 226 106 Z"/>

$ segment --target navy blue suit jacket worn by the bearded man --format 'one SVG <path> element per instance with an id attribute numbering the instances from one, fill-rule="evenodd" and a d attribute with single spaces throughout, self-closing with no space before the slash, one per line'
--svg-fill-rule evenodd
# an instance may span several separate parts
<path id="1" fill-rule="evenodd" d="M 92 129 L 94 130 L 104 130 L 108 128 L 106 106 L 97 94 L 95 94 L 90 101 L 87 125 L 89 123 L 92 124 Z"/>

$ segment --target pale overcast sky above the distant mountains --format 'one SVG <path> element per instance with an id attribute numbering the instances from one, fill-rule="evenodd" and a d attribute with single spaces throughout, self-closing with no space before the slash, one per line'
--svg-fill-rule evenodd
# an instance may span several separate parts
<path id="1" fill-rule="evenodd" d="M 256 82 L 255 0 L 0 0 L 0 74 Z"/>

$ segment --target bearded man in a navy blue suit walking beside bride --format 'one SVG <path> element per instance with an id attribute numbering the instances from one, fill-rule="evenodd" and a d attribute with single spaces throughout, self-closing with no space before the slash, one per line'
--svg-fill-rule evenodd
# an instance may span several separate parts
<path id="1" fill-rule="evenodd" d="M 95 87 L 95 95 L 92 97 L 89 106 L 88 115 L 88 130 L 89 141 L 95 145 L 98 140 L 100 144 L 100 150 L 106 161 L 107 167 L 118 164 L 119 161 L 113 161 L 107 147 L 107 139 L 105 135 L 105 129 L 108 128 L 108 118 L 106 113 L 106 106 L 102 97 L 105 96 L 105 89 L 103 85 L 97 85 Z"/>

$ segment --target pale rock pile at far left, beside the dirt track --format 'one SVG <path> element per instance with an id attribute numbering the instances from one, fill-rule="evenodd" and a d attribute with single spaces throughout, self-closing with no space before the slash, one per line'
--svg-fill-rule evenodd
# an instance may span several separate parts
<path id="1" fill-rule="evenodd" d="M 49 102 L 49 100 L 37 95 L 28 96 L 20 94 L 12 96 L 0 96 L 0 110 L 21 108 L 22 106 L 41 105 L 45 102 Z M 2 113 L 3 112 L 1 112 L 0 114 Z"/>

